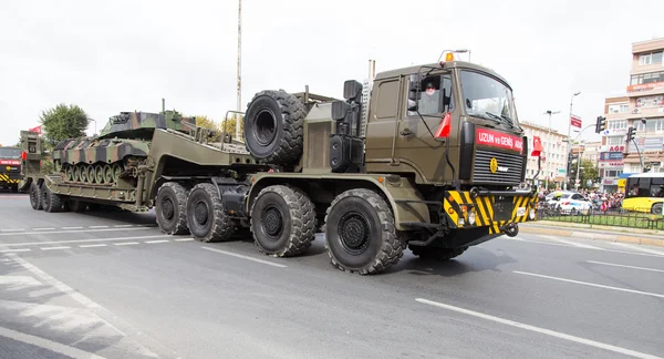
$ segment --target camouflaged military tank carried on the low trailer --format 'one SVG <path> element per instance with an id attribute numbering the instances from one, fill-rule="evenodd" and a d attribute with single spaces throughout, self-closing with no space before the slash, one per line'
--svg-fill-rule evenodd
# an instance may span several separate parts
<path id="1" fill-rule="evenodd" d="M 137 166 L 147 158 L 155 129 L 190 132 L 195 117 L 177 111 L 121 112 L 97 136 L 63 140 L 53 148 L 55 171 L 71 184 L 113 187 L 134 182 Z"/>

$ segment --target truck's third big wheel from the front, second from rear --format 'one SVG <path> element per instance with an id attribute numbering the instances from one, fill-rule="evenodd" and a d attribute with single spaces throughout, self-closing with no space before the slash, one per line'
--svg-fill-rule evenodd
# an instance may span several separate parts
<path id="1" fill-rule="evenodd" d="M 194 239 L 200 242 L 228 240 L 235 224 L 224 212 L 218 189 L 211 183 L 196 185 L 187 199 L 187 224 Z"/>

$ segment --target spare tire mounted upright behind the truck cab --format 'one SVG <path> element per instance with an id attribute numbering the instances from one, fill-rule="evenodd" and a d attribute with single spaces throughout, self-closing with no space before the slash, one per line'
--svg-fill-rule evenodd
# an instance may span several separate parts
<path id="1" fill-rule="evenodd" d="M 245 116 L 245 142 L 261 163 L 289 166 L 302 155 L 304 104 L 286 91 L 257 93 Z"/>

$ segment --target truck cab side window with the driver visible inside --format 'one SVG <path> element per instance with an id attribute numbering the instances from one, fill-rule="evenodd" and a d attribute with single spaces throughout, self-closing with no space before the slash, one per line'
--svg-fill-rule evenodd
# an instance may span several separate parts
<path id="1" fill-rule="evenodd" d="M 411 79 L 414 81 L 415 76 Z M 449 74 L 426 76 L 419 84 L 422 92 L 418 94 L 417 110 L 422 115 L 435 115 L 454 111 L 454 96 L 452 93 L 452 76 Z M 408 115 L 417 115 L 408 111 Z"/>

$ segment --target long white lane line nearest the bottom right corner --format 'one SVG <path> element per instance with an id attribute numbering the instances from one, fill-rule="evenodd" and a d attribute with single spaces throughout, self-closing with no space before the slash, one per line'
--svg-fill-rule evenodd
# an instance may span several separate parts
<path id="1" fill-rule="evenodd" d="M 587 346 L 591 346 L 591 347 L 595 347 L 595 348 L 600 348 L 600 349 L 604 349 L 604 350 L 619 352 L 619 353 L 626 355 L 626 356 L 632 356 L 632 357 L 636 357 L 636 358 L 645 358 L 645 359 L 661 359 L 660 357 L 655 357 L 653 355 L 649 355 L 645 352 L 640 352 L 640 351 L 635 351 L 635 350 L 631 350 L 631 349 L 626 349 L 626 348 L 621 348 L 621 347 L 608 345 L 604 342 L 599 342 L 599 341 L 568 335 L 564 332 L 560 332 L 560 331 L 554 331 L 551 329 L 540 328 L 540 327 L 536 327 L 536 326 L 531 326 L 531 325 L 527 325 L 527 324 L 522 324 L 522 322 L 518 322 L 518 321 L 513 321 L 513 320 L 509 320 L 509 319 L 494 317 L 494 316 L 490 316 L 490 315 L 487 315 L 484 312 L 474 311 L 474 310 L 469 310 L 469 309 L 465 309 L 465 308 L 460 308 L 460 307 L 455 307 L 455 306 L 446 305 L 446 304 L 438 302 L 438 301 L 433 301 L 433 300 L 422 299 L 422 298 L 416 298 L 415 300 L 417 300 L 422 304 L 426 304 L 426 305 L 430 305 L 434 307 L 439 307 L 443 309 L 465 314 L 465 315 L 473 316 L 476 318 L 491 320 L 491 321 L 504 324 L 507 326 L 512 326 L 516 328 L 526 329 L 526 330 L 543 334 L 547 336 L 566 339 L 566 340 L 574 341 L 578 343 L 582 343 L 582 345 L 587 345 Z"/>

